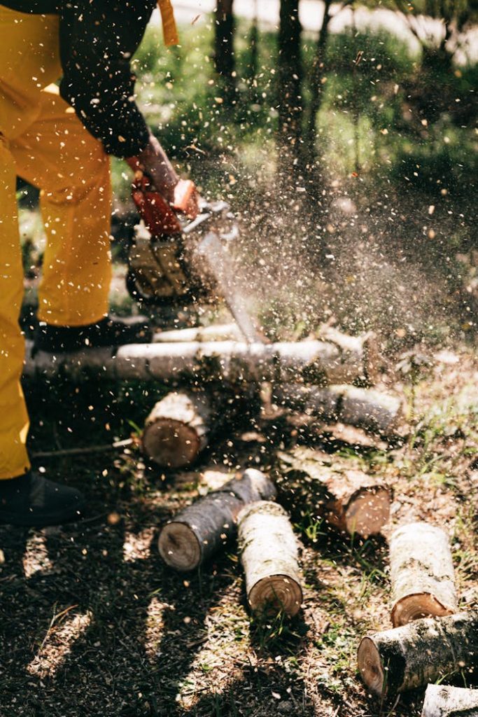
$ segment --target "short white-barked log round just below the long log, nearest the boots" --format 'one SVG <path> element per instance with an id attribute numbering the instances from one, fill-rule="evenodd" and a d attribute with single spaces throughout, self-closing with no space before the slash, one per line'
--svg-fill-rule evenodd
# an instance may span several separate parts
<path id="1" fill-rule="evenodd" d="M 202 392 L 168 394 L 145 421 L 145 454 L 162 467 L 191 465 L 208 444 L 211 413 L 209 399 Z"/>

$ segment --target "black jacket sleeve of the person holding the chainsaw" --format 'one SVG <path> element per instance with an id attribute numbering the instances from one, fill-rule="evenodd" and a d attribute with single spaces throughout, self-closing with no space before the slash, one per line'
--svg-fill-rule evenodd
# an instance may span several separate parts
<path id="1" fill-rule="evenodd" d="M 62 98 L 105 151 L 131 157 L 148 143 L 149 130 L 133 98 L 130 57 L 143 38 L 155 0 L 62 2 Z"/>

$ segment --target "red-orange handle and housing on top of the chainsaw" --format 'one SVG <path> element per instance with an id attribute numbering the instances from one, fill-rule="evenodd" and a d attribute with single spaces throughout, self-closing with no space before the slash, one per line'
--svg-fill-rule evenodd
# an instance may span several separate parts
<path id="1" fill-rule="evenodd" d="M 180 179 L 174 188 L 174 203 L 169 204 L 143 172 L 136 172 L 132 187 L 133 201 L 153 237 L 178 234 L 182 225 L 178 214 L 195 219 L 198 214 L 196 186 L 189 179 Z"/>

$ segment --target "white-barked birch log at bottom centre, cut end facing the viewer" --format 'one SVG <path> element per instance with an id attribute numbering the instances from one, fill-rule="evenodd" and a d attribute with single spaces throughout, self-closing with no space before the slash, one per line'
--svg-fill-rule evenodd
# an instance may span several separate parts
<path id="1" fill-rule="evenodd" d="M 284 508 L 268 500 L 253 503 L 239 513 L 237 526 L 251 609 L 297 614 L 302 604 L 297 539 Z"/>

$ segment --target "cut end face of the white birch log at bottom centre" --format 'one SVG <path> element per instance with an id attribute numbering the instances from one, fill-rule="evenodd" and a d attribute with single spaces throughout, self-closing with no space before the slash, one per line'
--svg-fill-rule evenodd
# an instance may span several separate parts
<path id="1" fill-rule="evenodd" d="M 289 575 L 270 575 L 252 587 L 248 600 L 254 612 L 269 615 L 285 612 L 294 617 L 302 604 L 302 588 Z"/>

